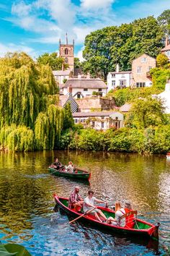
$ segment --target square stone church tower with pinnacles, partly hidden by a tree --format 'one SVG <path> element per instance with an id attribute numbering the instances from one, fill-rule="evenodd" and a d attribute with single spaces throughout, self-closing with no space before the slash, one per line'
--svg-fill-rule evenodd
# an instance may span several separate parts
<path id="1" fill-rule="evenodd" d="M 65 63 L 69 65 L 69 69 L 74 69 L 74 40 L 73 44 L 68 44 L 68 37 L 66 33 L 66 44 L 61 44 L 59 40 L 59 53 L 60 56 L 65 59 Z"/>

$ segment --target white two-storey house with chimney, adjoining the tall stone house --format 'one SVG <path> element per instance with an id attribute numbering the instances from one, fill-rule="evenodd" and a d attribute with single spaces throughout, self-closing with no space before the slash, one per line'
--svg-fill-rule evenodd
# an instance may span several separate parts
<path id="1" fill-rule="evenodd" d="M 120 88 L 129 87 L 131 85 L 132 72 L 119 70 L 119 65 L 117 64 L 116 72 L 109 72 L 107 74 L 107 87 L 109 90 L 115 89 L 117 86 Z"/>

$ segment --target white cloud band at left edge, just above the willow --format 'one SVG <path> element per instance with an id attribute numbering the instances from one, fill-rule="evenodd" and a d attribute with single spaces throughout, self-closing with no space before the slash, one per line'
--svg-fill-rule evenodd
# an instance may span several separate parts
<path id="1" fill-rule="evenodd" d="M 32 57 L 37 57 L 38 54 L 33 48 L 24 45 L 16 45 L 14 43 L 0 43 L 0 56 L 4 56 L 7 52 L 24 51 Z"/>

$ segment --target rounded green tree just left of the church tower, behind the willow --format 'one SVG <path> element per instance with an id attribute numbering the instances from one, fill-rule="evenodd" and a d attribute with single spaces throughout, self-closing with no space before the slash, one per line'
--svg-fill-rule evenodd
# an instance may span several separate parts
<path id="1" fill-rule="evenodd" d="M 37 63 L 38 64 L 43 64 L 43 65 L 49 65 L 52 70 L 60 70 L 62 69 L 62 66 L 64 69 L 68 68 L 68 64 L 64 62 L 64 59 L 61 56 L 58 56 L 57 53 L 52 53 L 52 54 L 42 54 L 37 58 Z"/>

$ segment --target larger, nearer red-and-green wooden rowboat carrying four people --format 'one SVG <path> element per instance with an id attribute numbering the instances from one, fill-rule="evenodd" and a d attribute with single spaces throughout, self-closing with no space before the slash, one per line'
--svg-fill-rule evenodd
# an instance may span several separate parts
<path id="1" fill-rule="evenodd" d="M 71 210 L 68 208 L 68 198 L 65 197 L 58 197 L 58 195 L 53 195 L 56 204 L 64 210 L 66 213 L 73 217 L 79 217 L 82 216 L 83 213 L 77 213 L 75 210 Z M 111 210 L 109 208 L 104 208 L 104 207 L 97 207 L 98 209 L 102 210 L 104 215 L 109 218 L 109 216 L 112 216 L 115 218 L 115 211 Z M 115 234 L 116 232 L 126 234 L 126 235 L 139 235 L 139 236 L 153 236 L 158 239 L 158 227 L 160 223 L 157 223 L 156 225 L 153 225 L 151 223 L 148 223 L 146 221 L 142 221 L 138 218 L 134 218 L 133 220 L 133 228 L 129 227 L 121 227 L 121 226 L 113 226 L 107 223 L 101 223 L 97 221 L 94 216 L 88 214 L 84 215 L 82 218 L 80 218 L 81 221 L 84 221 L 86 223 L 90 223 L 91 225 L 102 229 L 104 231 L 108 231 L 111 234 Z"/>

